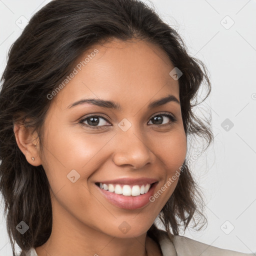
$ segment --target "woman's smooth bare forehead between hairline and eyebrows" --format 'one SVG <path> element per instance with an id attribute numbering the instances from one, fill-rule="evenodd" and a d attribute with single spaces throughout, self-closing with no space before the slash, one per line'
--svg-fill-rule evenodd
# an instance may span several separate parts
<path id="1" fill-rule="evenodd" d="M 169 75 L 174 66 L 159 46 L 145 40 L 95 44 L 77 58 L 73 68 L 75 74 L 54 97 L 62 109 L 86 97 L 121 105 L 146 103 L 169 93 L 179 99 L 178 81 Z"/>

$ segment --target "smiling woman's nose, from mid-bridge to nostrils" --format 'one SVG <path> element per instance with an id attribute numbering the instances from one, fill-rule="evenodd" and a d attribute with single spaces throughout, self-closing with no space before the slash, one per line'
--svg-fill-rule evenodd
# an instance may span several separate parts
<path id="1" fill-rule="evenodd" d="M 139 169 L 153 161 L 154 154 L 147 145 L 148 137 L 139 128 L 136 129 L 135 125 L 126 131 L 118 130 L 115 136 L 113 162 L 116 165 L 131 165 Z"/>

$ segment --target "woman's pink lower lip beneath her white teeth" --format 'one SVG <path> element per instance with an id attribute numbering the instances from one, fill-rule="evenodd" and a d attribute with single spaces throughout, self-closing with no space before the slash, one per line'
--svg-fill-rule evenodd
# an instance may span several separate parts
<path id="1" fill-rule="evenodd" d="M 108 190 L 100 188 L 96 184 L 95 185 L 110 203 L 119 208 L 132 210 L 141 208 L 150 202 L 149 197 L 153 195 L 154 188 L 157 183 L 158 182 L 153 183 L 146 193 L 136 196 L 116 194 L 114 192 L 109 192 Z"/>

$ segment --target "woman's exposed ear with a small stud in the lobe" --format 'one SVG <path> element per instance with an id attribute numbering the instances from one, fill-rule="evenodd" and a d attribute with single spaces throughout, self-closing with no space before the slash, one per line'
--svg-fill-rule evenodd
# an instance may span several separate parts
<path id="1" fill-rule="evenodd" d="M 13 132 L 19 149 L 25 155 L 26 160 L 34 166 L 41 164 L 39 156 L 39 137 L 36 131 L 32 133 L 32 127 L 25 127 L 21 123 L 13 124 Z M 34 160 L 32 160 L 34 157 Z"/>

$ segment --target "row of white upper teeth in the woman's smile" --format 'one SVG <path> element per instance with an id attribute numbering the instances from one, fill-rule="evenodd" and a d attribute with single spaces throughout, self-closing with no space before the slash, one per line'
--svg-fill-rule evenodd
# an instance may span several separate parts
<path id="1" fill-rule="evenodd" d="M 99 183 L 99 187 L 103 188 L 104 190 L 108 190 L 109 192 L 114 192 L 116 194 L 123 194 L 123 195 L 127 195 L 127 196 L 137 196 L 143 193 L 147 193 L 149 188 L 150 188 L 151 184 L 146 184 L 146 185 L 141 185 L 139 187 L 139 185 L 123 185 L 122 187 L 117 184 L 117 185 L 113 185 L 113 184 L 105 184 L 105 183 Z"/>

